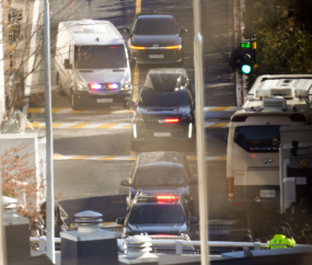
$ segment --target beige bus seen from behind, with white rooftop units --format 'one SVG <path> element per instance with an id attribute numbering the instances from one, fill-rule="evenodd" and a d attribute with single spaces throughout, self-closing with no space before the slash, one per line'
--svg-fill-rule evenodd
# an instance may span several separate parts
<path id="1" fill-rule="evenodd" d="M 305 103 L 312 76 L 262 76 L 242 110 L 231 117 L 228 138 L 228 196 L 234 212 L 247 210 L 259 194 L 266 210 L 279 209 L 280 127 L 310 124 Z"/>

